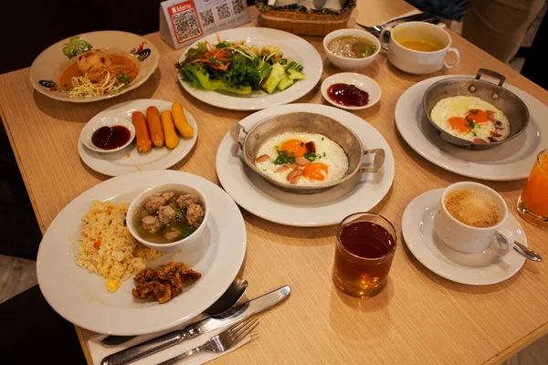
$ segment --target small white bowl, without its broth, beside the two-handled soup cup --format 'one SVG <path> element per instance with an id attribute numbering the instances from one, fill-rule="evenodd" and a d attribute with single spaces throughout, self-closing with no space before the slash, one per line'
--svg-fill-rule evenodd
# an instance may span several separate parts
<path id="1" fill-rule="evenodd" d="M 338 38 L 340 36 L 359 36 L 361 38 L 365 38 L 374 44 L 374 47 L 376 47 L 376 50 L 374 51 L 373 55 L 369 57 L 364 57 L 364 58 L 346 58 L 346 57 L 337 56 L 334 53 L 332 53 L 332 51 L 329 50 L 328 45 L 331 43 L 333 39 Z M 376 36 L 364 30 L 339 29 L 339 30 L 332 31 L 330 34 L 328 34 L 327 36 L 323 38 L 323 49 L 325 50 L 325 54 L 327 55 L 327 58 L 337 68 L 341 68 L 342 71 L 357 71 L 359 69 L 366 68 L 374 61 L 374 58 L 377 57 L 377 55 L 381 51 L 381 42 L 379 42 Z"/>

